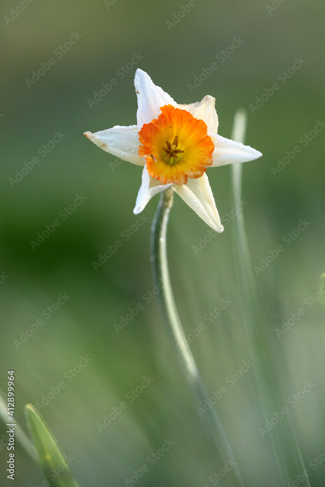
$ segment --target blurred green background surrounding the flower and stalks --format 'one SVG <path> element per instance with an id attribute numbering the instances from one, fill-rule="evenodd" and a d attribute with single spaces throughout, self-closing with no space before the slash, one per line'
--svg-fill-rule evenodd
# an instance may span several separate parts
<path id="1" fill-rule="evenodd" d="M 148 456 L 169 438 L 175 445 L 150 465 L 137 485 L 203 487 L 212 485 L 209 477 L 217 471 L 216 451 L 163 327 L 157 299 L 147 303 L 144 298 L 153 289 L 149 238 L 157 196 L 143 212 L 146 223 L 127 241 L 122 238 L 122 247 L 96 271 L 92 265 L 135 224 L 138 217 L 132 210 L 141 169 L 120 164 L 83 132 L 136 123 L 133 80 L 140 67 L 178 103 L 214 96 L 219 133 L 225 137 L 231 136 L 237 108 L 248 110 L 246 143 L 264 154 L 244 167 L 243 196 L 249 203 L 244 215 L 253 265 L 260 266 L 269 251 L 284 244 L 300 219 L 310 222 L 255 278 L 284 404 L 305 381 L 316 385 L 290 408 L 290 418 L 311 485 L 324 486 L 324 460 L 314 463 L 316 468 L 309 462 L 320 455 L 325 459 L 325 310 L 318 295 L 311 306 L 304 302 L 318 291 L 325 271 L 325 131 L 315 137 L 312 132 L 307 144 L 299 141 L 325 114 L 324 2 L 275 1 L 278 6 L 271 9 L 267 1 L 202 0 L 174 25 L 168 22 L 187 0 L 36 0 L 17 15 L 19 5 L 18 0 L 2 0 L 0 19 L 0 387 L 5 391 L 7 370 L 14 369 L 17 420 L 25 428 L 24 404 L 40 403 L 63 381 L 64 388 L 50 394 L 54 397 L 40 413 L 63 451 L 74 458 L 71 470 L 84 487 L 124 486 L 133 470 L 149 465 Z M 10 15 L 14 19 L 8 20 Z M 72 33 L 81 37 L 61 56 L 56 50 Z M 216 60 L 233 37 L 244 42 L 224 62 Z M 143 58 L 121 79 L 116 72 L 134 53 Z M 50 57 L 55 64 L 35 83 L 26 83 Z M 279 81 L 296 57 L 306 62 L 286 83 Z M 188 84 L 212 62 L 217 70 L 191 93 Z M 87 100 L 113 77 L 117 85 L 90 108 Z M 275 82 L 280 89 L 252 113 L 249 105 Z M 42 157 L 38 148 L 55 131 L 65 135 L 55 147 L 50 143 Z M 271 168 L 297 145 L 301 151 L 274 176 Z M 16 170 L 33 157 L 39 163 L 12 183 Z M 232 209 L 230 168 L 209 170 L 208 176 L 219 213 L 226 215 Z M 84 202 L 65 213 L 63 208 L 81 193 Z M 172 284 L 186 334 L 206 324 L 191 350 L 210 393 L 225 385 L 243 360 L 252 360 L 241 319 L 234 224 L 224 220 L 224 233 L 195 253 L 192 246 L 204 239 L 208 227 L 177 195 L 174 200 L 169 227 Z M 33 250 L 31 241 L 56 219 L 61 225 Z M 70 298 L 46 318 L 43 310 L 60 293 Z M 232 302 L 208 323 L 204 316 L 222 299 Z M 144 309 L 117 334 L 114 324 L 138 303 Z M 279 338 L 275 329 L 301 307 L 306 313 Z M 27 341 L 15 342 L 38 318 L 44 324 Z M 90 359 L 84 368 L 78 367 L 81 356 Z M 74 367 L 75 376 L 69 379 Z M 131 402 L 126 394 L 148 375 L 153 382 Z M 97 423 L 121 401 L 127 409 L 99 432 Z M 246 484 L 276 487 L 270 440 L 258 431 L 265 419 L 251 370 L 228 388 L 215 408 Z M 1 423 L 0 483 L 10 485 L 5 431 Z M 39 486 L 44 478 L 17 445 L 15 485 Z M 220 482 L 227 483 L 227 477 Z"/>

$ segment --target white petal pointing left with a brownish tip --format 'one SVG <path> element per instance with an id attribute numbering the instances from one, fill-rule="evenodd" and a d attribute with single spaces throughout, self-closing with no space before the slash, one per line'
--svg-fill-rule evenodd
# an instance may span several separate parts
<path id="1" fill-rule="evenodd" d="M 144 166 L 144 160 L 138 155 L 140 145 L 138 131 L 136 125 L 130 125 L 130 127 L 116 125 L 112 129 L 95 133 L 85 132 L 85 135 L 100 149 L 106 150 L 123 161 Z"/>

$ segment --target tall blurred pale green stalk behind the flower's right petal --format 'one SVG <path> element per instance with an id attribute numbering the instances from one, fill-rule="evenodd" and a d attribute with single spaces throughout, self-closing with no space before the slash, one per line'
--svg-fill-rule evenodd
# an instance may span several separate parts
<path id="1" fill-rule="evenodd" d="M 232 139 L 244 143 L 247 115 L 239 111 L 235 115 Z M 232 165 L 232 198 L 233 207 L 242 199 L 242 169 L 241 164 Z M 235 255 L 239 254 L 238 267 L 241 279 L 240 298 L 241 311 L 245 334 L 249 346 L 250 356 L 253 357 L 255 379 L 260 395 L 265 420 L 270 420 L 274 412 L 281 411 L 287 404 L 281 393 L 276 373 L 276 364 L 270 351 L 267 328 L 258 300 L 253 267 L 249 255 L 249 246 L 245 230 L 244 215 L 239 211 L 235 219 Z M 264 425 L 261 425 L 263 427 Z M 299 445 L 293 431 L 290 418 L 284 415 L 281 422 L 269 432 L 275 461 L 279 470 L 279 480 L 282 486 L 295 480 L 295 475 L 303 474 L 305 470 Z M 264 440 L 268 441 L 268 436 Z M 306 486 L 310 486 L 306 478 Z"/>

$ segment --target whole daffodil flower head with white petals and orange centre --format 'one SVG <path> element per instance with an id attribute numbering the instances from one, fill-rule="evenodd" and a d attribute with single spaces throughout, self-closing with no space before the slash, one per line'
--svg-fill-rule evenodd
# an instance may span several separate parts
<path id="1" fill-rule="evenodd" d="M 106 152 L 143 167 L 135 215 L 155 194 L 172 187 L 213 230 L 222 232 L 206 170 L 252 161 L 261 152 L 218 135 L 212 96 L 178 105 L 141 69 L 136 70 L 134 85 L 137 125 L 85 132 L 86 137 Z"/>

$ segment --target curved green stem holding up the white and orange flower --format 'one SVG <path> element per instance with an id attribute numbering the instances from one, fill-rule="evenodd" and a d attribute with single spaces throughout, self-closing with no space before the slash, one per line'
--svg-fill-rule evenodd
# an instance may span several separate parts
<path id="1" fill-rule="evenodd" d="M 172 188 L 162 192 L 153 220 L 151 234 L 153 281 L 155 285 L 159 284 L 161 289 L 158 295 L 160 311 L 172 339 L 176 355 L 190 384 L 194 403 L 198 407 L 203 408 L 204 402 L 209 400 L 209 394 L 200 371 L 197 368 L 191 349 L 186 345 L 187 340 L 177 313 L 169 275 L 167 260 L 167 226 L 169 213 L 172 207 L 172 200 Z M 218 449 L 220 460 L 222 460 L 224 465 L 227 460 L 233 459 L 234 456 L 215 409 L 211 407 L 210 410 L 202 416 L 202 419 L 205 421 L 207 431 L 210 433 L 210 437 Z M 232 477 L 232 482 L 230 476 Z M 232 474 L 229 474 L 228 485 L 244 487 L 238 467 L 233 468 Z"/>

